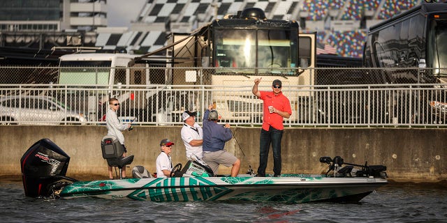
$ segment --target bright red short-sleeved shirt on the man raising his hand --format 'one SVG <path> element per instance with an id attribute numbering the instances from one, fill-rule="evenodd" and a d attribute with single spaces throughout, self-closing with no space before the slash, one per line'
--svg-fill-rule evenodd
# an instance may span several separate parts
<path id="1" fill-rule="evenodd" d="M 277 113 L 270 113 L 268 107 L 273 106 L 275 109 L 291 115 L 291 102 L 282 92 L 278 95 L 274 95 L 273 91 L 259 91 L 259 93 L 261 93 L 261 100 L 264 101 L 263 130 L 268 131 L 270 125 L 277 130 L 284 130 L 283 117 Z"/>

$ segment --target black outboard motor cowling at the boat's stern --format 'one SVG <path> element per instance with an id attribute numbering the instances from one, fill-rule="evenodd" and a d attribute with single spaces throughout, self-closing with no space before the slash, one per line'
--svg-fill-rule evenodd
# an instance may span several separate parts
<path id="1" fill-rule="evenodd" d="M 22 181 L 28 197 L 48 197 L 49 186 L 64 178 L 70 157 L 50 139 L 41 139 L 20 159 Z"/>

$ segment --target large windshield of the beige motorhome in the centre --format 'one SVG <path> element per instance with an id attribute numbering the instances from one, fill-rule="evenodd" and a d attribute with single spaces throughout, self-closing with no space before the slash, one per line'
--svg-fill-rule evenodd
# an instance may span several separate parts
<path id="1" fill-rule="evenodd" d="M 258 72 L 293 74 L 298 58 L 298 33 L 290 30 L 217 29 L 217 73 Z M 242 69 L 241 69 L 242 68 Z M 251 69 L 245 69 L 251 68 Z"/>

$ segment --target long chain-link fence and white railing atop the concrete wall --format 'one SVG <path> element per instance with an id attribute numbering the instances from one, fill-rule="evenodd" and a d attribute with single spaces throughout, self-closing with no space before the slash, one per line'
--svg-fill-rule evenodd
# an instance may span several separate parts
<path id="1" fill-rule="evenodd" d="M 444 126 L 446 84 L 437 71 L 0 67 L 1 123 L 103 124 L 115 97 L 120 119 L 135 124 L 180 124 L 184 110 L 198 111 L 200 122 L 212 104 L 223 121 L 259 125 L 263 102 L 251 87 L 262 77 L 262 91 L 281 80 L 293 110 L 288 126 Z"/>

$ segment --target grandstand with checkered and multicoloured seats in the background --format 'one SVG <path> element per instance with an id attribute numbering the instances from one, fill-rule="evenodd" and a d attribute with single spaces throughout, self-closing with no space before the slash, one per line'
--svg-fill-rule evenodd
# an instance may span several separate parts
<path id="1" fill-rule="evenodd" d="M 256 7 L 268 19 L 300 21 L 302 32 L 317 32 L 319 45 L 340 56 L 361 57 L 367 28 L 402 13 L 422 0 L 148 0 L 131 29 L 98 29 L 96 46 L 140 54 L 166 45 L 170 32 L 187 33 L 214 19 Z M 321 51 L 320 51 L 321 52 Z"/>

